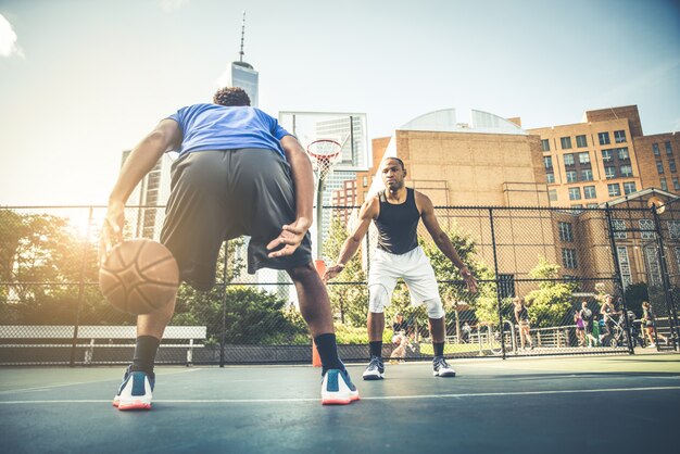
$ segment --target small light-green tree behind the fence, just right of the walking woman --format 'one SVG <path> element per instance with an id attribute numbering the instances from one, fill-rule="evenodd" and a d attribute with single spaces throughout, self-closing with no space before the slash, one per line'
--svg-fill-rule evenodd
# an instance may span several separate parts
<path id="1" fill-rule="evenodd" d="M 539 264 L 529 272 L 539 281 L 538 290 L 526 295 L 531 325 L 538 328 L 563 325 L 571 311 L 571 294 L 575 286 L 559 281 L 559 265 L 539 257 Z"/>

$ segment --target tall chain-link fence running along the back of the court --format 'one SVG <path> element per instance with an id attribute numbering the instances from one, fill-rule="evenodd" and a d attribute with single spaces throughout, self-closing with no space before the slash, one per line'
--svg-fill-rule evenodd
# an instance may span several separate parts
<path id="1" fill-rule="evenodd" d="M 645 344 L 640 321 L 644 300 L 655 310 L 658 333 L 673 348 L 680 276 L 676 210 L 672 204 L 663 213 L 630 204 L 576 211 L 437 207 L 439 224 L 479 281 L 477 293 L 467 291 L 419 227 L 446 314 L 445 354 L 632 352 Z M 332 263 L 357 207 L 324 211 L 323 254 Z M 0 364 L 129 361 L 135 317 L 108 304 L 98 286 L 104 213 L 101 206 L 0 209 Z M 128 207 L 125 237 L 158 240 L 163 216 L 162 206 Z M 372 228 L 354 260 L 328 283 L 340 354 L 348 361 L 368 357 L 366 277 L 376 244 Z M 247 247 L 248 238 L 225 242 L 211 291 L 181 286 L 158 363 L 312 361 L 310 335 L 288 275 L 269 269 L 247 274 Z M 614 308 L 601 314 L 606 294 L 614 297 Z M 524 299 L 524 307 L 513 303 L 517 298 Z M 411 305 L 403 282 L 386 320 L 386 357 L 431 357 L 427 314 Z"/>

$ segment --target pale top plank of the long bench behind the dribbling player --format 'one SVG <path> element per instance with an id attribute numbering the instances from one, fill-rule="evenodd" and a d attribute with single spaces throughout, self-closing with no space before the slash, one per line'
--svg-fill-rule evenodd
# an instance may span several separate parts
<path id="1" fill-rule="evenodd" d="M 74 326 L 2 325 L 0 339 L 71 339 Z M 168 326 L 163 339 L 205 339 L 204 326 Z M 135 339 L 135 326 L 84 325 L 78 327 L 78 339 Z"/>

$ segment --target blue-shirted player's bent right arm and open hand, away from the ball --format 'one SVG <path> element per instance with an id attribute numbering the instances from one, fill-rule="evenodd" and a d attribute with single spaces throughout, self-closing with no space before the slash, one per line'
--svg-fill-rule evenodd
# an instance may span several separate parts
<path id="1" fill-rule="evenodd" d="M 267 249 L 275 249 L 286 244 L 278 251 L 270 252 L 269 257 L 290 255 L 300 245 L 305 234 L 312 226 L 312 211 L 314 209 L 314 173 L 310 156 L 293 136 L 285 136 L 281 147 L 286 153 L 286 160 L 290 169 L 295 188 L 295 220 L 281 227 L 281 232 L 273 239 Z"/>

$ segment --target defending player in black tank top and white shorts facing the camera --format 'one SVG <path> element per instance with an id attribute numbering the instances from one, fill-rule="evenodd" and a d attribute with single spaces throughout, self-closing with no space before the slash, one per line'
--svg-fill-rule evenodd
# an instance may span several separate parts
<path id="1" fill-rule="evenodd" d="M 467 288 L 477 291 L 477 281 L 461 261 L 446 234 L 439 226 L 430 199 L 421 192 L 406 188 L 406 169 L 398 157 L 382 161 L 380 173 L 386 190 L 366 200 L 352 235 L 347 239 L 337 263 L 328 267 L 324 281 L 336 277 L 354 256 L 373 220 L 378 228 L 378 250 L 370 262 L 368 275 L 368 341 L 370 362 L 364 371 L 364 380 L 385 378 L 382 362 L 382 331 L 385 306 L 390 304 L 396 279 L 408 286 L 411 302 L 425 304 L 429 317 L 430 335 L 435 346 L 433 375 L 454 377 L 455 371 L 444 360 L 446 336 L 444 311 L 439 295 L 435 270 L 429 258 L 418 245 L 418 222 L 431 235 L 439 250 L 459 269 Z"/>

